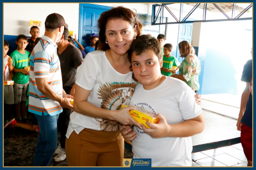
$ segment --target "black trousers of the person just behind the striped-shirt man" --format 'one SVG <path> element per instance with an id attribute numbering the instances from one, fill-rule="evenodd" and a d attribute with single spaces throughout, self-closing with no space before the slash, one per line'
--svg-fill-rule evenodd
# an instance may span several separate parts
<path id="1" fill-rule="evenodd" d="M 68 124 L 70 121 L 70 113 L 72 110 L 63 108 L 62 113 L 60 113 L 60 117 L 58 120 L 58 131 L 60 132 L 60 145 L 61 148 L 65 148 L 66 142 L 66 133 L 68 130 Z"/>

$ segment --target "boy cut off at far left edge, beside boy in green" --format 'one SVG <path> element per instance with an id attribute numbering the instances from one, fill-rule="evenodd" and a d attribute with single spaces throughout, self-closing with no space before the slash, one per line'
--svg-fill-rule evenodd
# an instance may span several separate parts
<path id="1" fill-rule="evenodd" d="M 8 50 L 9 43 L 4 40 L 4 81 L 12 80 L 13 78 L 13 60 L 7 55 Z M 6 115 L 8 114 L 8 120 L 10 120 L 10 104 L 14 104 L 13 85 L 4 85 L 4 109 Z"/>

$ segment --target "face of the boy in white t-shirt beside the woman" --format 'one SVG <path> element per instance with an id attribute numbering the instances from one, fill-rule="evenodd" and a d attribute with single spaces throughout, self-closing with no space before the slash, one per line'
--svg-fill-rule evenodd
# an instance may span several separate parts
<path id="1" fill-rule="evenodd" d="M 160 68 L 163 66 L 163 61 L 159 62 L 153 50 L 147 50 L 141 55 L 132 52 L 131 63 L 135 78 L 143 86 L 152 85 L 161 76 Z"/>

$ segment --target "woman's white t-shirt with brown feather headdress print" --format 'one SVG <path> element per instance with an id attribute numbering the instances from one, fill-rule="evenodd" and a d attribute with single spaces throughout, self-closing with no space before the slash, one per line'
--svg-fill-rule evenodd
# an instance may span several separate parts
<path id="1" fill-rule="evenodd" d="M 76 84 L 92 90 L 88 102 L 106 110 L 119 110 L 129 104 L 137 85 L 132 72 L 118 73 L 109 63 L 105 52 L 95 51 L 86 55 L 76 74 Z M 84 128 L 97 131 L 119 131 L 120 124 L 113 120 L 88 117 L 74 111 L 70 115 L 67 138 L 72 131 L 77 134 Z"/>

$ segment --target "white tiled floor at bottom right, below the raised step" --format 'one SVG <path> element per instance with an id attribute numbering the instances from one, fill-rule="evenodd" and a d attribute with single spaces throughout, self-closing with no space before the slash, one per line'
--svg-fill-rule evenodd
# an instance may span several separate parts
<path id="1" fill-rule="evenodd" d="M 192 166 L 247 166 L 241 143 L 192 153 Z"/>

